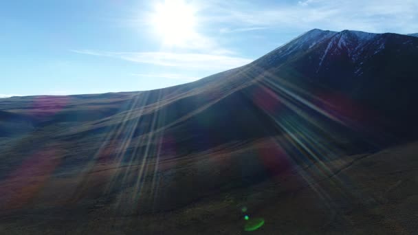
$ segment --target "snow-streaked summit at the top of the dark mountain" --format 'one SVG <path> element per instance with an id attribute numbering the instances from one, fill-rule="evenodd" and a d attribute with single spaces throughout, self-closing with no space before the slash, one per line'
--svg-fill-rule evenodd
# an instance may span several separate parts
<path id="1" fill-rule="evenodd" d="M 351 64 L 349 66 L 353 67 L 353 73 L 361 75 L 366 60 L 382 54 L 387 43 L 395 42 L 410 49 L 416 49 L 414 41 L 414 38 L 401 34 L 375 34 L 354 30 L 333 32 L 314 29 L 256 61 L 260 67 L 267 68 L 309 54 L 309 63 L 315 67 L 316 73 L 326 70 L 331 63 L 342 63 L 341 61 L 347 60 L 347 63 Z"/>

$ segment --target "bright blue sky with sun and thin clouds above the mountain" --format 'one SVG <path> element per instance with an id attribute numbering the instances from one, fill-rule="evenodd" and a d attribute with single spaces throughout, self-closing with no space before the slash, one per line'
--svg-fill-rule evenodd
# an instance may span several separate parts
<path id="1" fill-rule="evenodd" d="M 313 28 L 415 33 L 417 12 L 417 0 L 1 1 L 0 97 L 179 85 Z"/>

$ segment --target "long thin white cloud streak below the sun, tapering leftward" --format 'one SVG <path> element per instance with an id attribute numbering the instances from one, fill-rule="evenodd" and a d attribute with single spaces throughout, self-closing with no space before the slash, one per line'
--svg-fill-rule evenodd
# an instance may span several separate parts
<path id="1" fill-rule="evenodd" d="M 134 63 L 152 64 L 184 69 L 224 70 L 250 63 L 249 58 L 222 54 L 173 53 L 173 52 L 104 52 L 91 49 L 72 50 L 78 54 L 118 58 Z"/>

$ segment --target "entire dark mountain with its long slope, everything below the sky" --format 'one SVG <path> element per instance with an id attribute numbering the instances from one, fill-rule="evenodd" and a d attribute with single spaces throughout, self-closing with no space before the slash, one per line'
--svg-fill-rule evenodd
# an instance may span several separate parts
<path id="1" fill-rule="evenodd" d="M 0 231 L 414 232 L 416 61 L 315 29 L 186 85 L 1 99 Z"/>

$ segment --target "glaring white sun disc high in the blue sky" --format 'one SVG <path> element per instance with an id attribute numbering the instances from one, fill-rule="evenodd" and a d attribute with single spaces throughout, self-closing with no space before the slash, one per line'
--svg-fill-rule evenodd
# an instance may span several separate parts
<path id="1" fill-rule="evenodd" d="M 183 0 L 166 0 L 156 5 L 151 22 L 165 44 L 184 44 L 195 34 L 195 9 Z"/>

